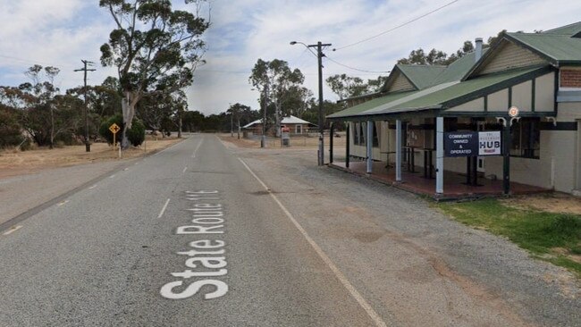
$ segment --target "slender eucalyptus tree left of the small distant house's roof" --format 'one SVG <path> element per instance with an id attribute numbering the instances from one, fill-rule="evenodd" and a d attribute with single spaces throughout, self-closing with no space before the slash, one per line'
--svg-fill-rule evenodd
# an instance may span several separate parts
<path id="1" fill-rule="evenodd" d="M 258 59 L 248 78 L 252 86 L 262 92 L 265 101 L 270 100 L 274 104 L 274 117 L 276 122 L 276 136 L 281 132 L 282 104 L 290 99 L 290 88 L 302 85 L 305 76 L 299 69 L 290 70 L 289 63 L 274 59 L 265 62 Z M 265 105 L 266 107 L 267 105 Z"/>

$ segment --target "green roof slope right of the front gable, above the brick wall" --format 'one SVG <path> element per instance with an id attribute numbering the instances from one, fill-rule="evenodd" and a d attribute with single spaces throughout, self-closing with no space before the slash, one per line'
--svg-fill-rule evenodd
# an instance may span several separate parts
<path id="1" fill-rule="evenodd" d="M 507 36 L 556 62 L 581 62 L 581 38 L 550 33 L 507 33 Z"/>

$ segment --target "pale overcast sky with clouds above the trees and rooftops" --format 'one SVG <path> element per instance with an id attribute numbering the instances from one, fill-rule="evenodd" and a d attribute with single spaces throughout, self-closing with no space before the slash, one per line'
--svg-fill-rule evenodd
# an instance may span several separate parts
<path id="1" fill-rule="evenodd" d="M 347 73 L 366 80 L 386 75 L 418 47 L 450 54 L 465 40 L 486 40 L 501 29 L 553 29 L 581 20 L 579 13 L 581 1 L 572 0 L 212 0 L 207 63 L 188 91 L 189 110 L 220 113 L 235 103 L 257 109 L 248 76 L 258 58 L 299 68 L 316 94 L 316 56 L 290 46 L 293 40 L 333 44 L 324 51 L 324 78 Z M 99 46 L 114 25 L 98 0 L 0 0 L 0 21 L 0 85 L 27 81 L 23 72 L 38 63 L 61 69 L 56 83 L 63 92 L 82 84 L 82 72 L 74 72 L 81 59 L 97 63 L 89 84 L 116 76 L 99 64 Z M 336 100 L 326 86 L 324 98 Z"/>

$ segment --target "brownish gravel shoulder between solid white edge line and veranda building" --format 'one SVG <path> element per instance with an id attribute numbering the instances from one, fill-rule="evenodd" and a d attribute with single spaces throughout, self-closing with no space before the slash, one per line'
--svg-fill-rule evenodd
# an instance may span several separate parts
<path id="1" fill-rule="evenodd" d="M 581 325 L 570 272 L 400 189 L 314 163 L 316 152 L 231 147 L 395 325 Z"/>

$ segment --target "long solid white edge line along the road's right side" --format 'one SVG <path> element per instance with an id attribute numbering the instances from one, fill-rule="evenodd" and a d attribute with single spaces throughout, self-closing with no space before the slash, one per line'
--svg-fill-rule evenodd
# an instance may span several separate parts
<path id="1" fill-rule="evenodd" d="M 278 199 L 278 197 L 276 197 L 274 193 L 266 186 L 266 184 L 258 178 L 256 173 L 252 172 L 250 167 L 248 167 L 248 164 L 246 164 L 240 158 L 238 158 L 238 160 L 240 160 L 240 163 L 242 163 L 244 167 L 246 167 L 248 172 L 250 172 L 250 174 L 252 174 L 252 176 L 254 176 L 256 180 L 258 180 L 260 185 L 262 185 L 262 187 L 265 188 L 268 194 L 270 194 L 270 196 L 273 197 L 274 202 L 276 202 L 276 204 L 281 207 L 282 212 L 284 212 L 284 214 L 286 214 L 287 217 L 289 217 L 290 222 L 292 222 L 297 228 L 297 230 L 299 230 L 300 233 L 303 235 L 303 237 L 307 239 L 308 244 L 310 244 L 311 247 L 315 249 L 316 254 L 319 255 L 321 259 L 323 259 L 324 263 L 327 264 L 331 271 L 333 271 L 335 277 L 337 277 L 337 279 L 341 282 L 343 287 L 345 287 L 345 289 L 349 291 L 351 296 L 355 298 L 359 306 L 361 306 L 366 311 L 369 317 L 374 321 L 375 325 L 387 327 L 387 324 L 383 322 L 383 319 L 379 316 L 379 314 L 375 312 L 374 308 L 371 305 L 369 305 L 369 303 L 366 301 L 365 298 L 363 298 L 363 296 L 361 296 L 358 290 L 355 289 L 355 287 L 349 282 L 347 277 L 345 277 L 345 275 L 339 270 L 339 268 L 337 268 L 337 266 L 333 264 L 333 261 L 331 261 L 329 256 L 327 256 L 324 253 L 323 249 L 316 244 L 315 240 L 311 239 L 311 237 L 308 236 L 307 231 L 305 231 L 305 229 L 299 224 L 299 222 L 297 222 L 297 220 L 292 216 L 292 214 L 290 214 L 289 210 L 287 210 L 287 208 L 284 205 L 282 205 L 282 202 Z"/>

